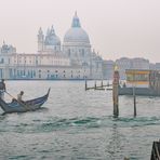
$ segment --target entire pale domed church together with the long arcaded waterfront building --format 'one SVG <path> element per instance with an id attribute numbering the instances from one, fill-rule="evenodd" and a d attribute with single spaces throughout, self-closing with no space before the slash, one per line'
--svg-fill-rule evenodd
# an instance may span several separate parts
<path id="1" fill-rule="evenodd" d="M 91 50 L 90 39 L 77 13 L 63 44 L 53 26 L 38 31 L 37 53 L 16 53 L 3 42 L 0 53 L 0 79 L 102 79 L 103 59 Z"/>

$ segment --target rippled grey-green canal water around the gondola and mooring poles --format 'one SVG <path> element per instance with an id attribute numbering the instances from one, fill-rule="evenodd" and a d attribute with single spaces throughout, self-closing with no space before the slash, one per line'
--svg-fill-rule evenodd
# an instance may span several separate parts
<path id="1" fill-rule="evenodd" d="M 121 96 L 115 119 L 111 92 L 85 92 L 83 81 L 6 82 L 9 93 L 16 96 L 23 90 L 25 99 L 45 94 L 50 86 L 42 109 L 0 116 L 0 159 L 150 159 L 152 142 L 160 138 L 159 97 L 137 97 L 133 118 L 133 98 Z"/>

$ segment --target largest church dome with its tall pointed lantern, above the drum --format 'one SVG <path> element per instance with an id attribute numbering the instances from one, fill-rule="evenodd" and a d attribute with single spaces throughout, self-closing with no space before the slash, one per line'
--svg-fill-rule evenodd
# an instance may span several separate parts
<path id="1" fill-rule="evenodd" d="M 66 32 L 64 37 L 64 42 L 82 42 L 90 43 L 90 39 L 85 30 L 81 28 L 79 17 L 77 13 L 72 18 L 71 28 Z"/>

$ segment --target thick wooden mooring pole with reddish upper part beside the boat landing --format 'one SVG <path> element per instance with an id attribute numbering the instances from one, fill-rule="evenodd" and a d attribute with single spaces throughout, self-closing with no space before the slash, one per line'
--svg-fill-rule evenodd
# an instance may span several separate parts
<path id="1" fill-rule="evenodd" d="M 119 89 L 119 71 L 115 70 L 114 81 L 112 81 L 112 101 L 114 101 L 114 117 L 116 118 L 119 116 L 118 89 Z"/>

